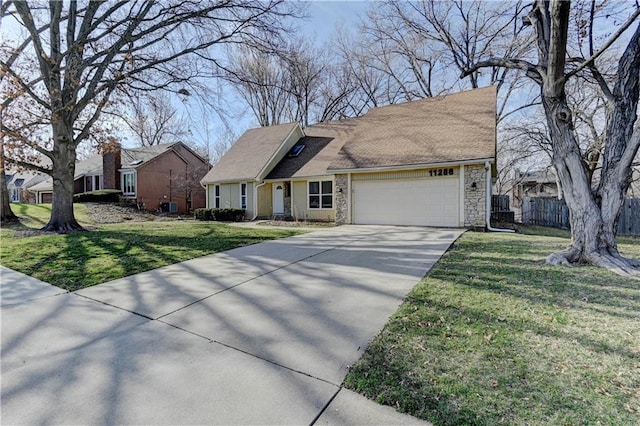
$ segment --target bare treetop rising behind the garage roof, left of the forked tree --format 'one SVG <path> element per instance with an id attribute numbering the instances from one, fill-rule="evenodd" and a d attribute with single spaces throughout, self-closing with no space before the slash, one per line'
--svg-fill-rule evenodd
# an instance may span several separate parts
<path id="1" fill-rule="evenodd" d="M 528 55 L 533 38 L 522 34 L 525 6 L 518 2 L 388 1 L 372 7 L 363 24 L 367 45 L 377 46 L 371 67 L 393 80 L 403 100 L 437 96 L 464 88 L 496 84 L 498 117 L 522 85 L 522 73 L 494 67 L 474 70 L 464 81 L 451 69 L 467 70 L 485 55 Z"/>

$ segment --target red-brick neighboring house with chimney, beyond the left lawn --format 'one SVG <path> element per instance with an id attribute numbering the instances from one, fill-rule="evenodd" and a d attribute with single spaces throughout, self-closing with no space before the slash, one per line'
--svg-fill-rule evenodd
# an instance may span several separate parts
<path id="1" fill-rule="evenodd" d="M 208 170 L 209 164 L 182 142 L 117 148 L 76 164 L 74 194 L 119 189 L 146 210 L 187 212 L 206 205 L 199 181 Z M 38 203 L 53 199 L 51 178 L 31 190 Z"/>

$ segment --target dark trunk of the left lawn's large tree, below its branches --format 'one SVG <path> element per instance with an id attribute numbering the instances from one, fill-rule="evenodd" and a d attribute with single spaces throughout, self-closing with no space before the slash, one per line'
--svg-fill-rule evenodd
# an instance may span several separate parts
<path id="1" fill-rule="evenodd" d="M 76 149 L 73 142 L 73 127 L 61 119 L 54 119 L 53 127 L 53 206 L 51 218 L 43 231 L 60 234 L 81 231 L 82 226 L 73 213 L 73 183 L 76 169 Z"/>

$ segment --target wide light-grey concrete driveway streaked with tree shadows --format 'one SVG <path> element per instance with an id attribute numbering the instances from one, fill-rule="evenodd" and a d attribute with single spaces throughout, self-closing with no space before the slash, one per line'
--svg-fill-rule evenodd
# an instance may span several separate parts
<path id="1" fill-rule="evenodd" d="M 3 424 L 412 424 L 341 388 L 462 230 L 341 226 L 75 293 L 3 268 Z"/>

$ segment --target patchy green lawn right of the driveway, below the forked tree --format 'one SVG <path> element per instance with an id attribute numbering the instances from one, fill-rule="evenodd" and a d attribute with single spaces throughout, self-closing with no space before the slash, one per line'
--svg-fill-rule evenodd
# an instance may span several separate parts
<path id="1" fill-rule="evenodd" d="M 466 233 L 345 385 L 435 425 L 640 424 L 640 282 L 547 266 L 544 232 Z"/>

